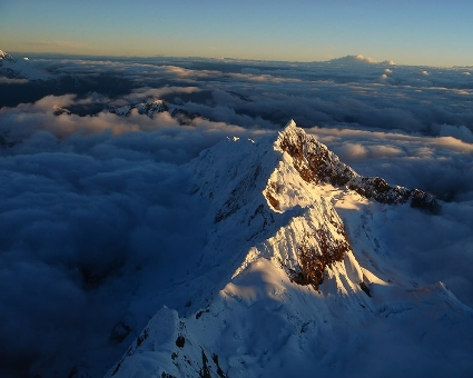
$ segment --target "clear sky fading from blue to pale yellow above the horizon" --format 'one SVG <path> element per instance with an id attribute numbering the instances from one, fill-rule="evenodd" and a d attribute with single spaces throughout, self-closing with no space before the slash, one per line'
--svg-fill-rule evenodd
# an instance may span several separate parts
<path id="1" fill-rule="evenodd" d="M 0 0 L 0 49 L 473 66 L 471 0 Z"/>

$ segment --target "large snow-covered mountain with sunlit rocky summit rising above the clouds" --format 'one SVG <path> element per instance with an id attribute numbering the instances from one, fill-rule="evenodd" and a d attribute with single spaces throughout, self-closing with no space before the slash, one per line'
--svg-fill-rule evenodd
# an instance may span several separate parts
<path id="1" fill-rule="evenodd" d="M 206 235 L 107 377 L 473 371 L 472 310 L 404 275 L 383 235 L 398 207 L 435 217 L 431 196 L 358 176 L 294 122 L 276 139 L 228 139 L 187 169 Z"/>

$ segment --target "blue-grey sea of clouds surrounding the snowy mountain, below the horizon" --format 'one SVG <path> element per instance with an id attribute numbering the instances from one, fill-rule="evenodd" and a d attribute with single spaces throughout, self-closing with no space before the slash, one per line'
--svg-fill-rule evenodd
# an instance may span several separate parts
<path id="1" fill-rule="evenodd" d="M 189 246 L 205 242 L 186 162 L 226 137 L 257 139 L 292 118 L 359 173 L 442 200 L 437 216 L 396 212 L 387 241 L 413 277 L 442 280 L 473 306 L 472 67 L 356 57 L 29 62 L 57 79 L 0 79 L 4 374 L 87 367 L 95 350 L 119 358 L 126 346 L 108 351 L 112 327 L 131 319 L 139 332 L 146 322 L 132 320 L 130 305 L 140 272 L 165 279 Z M 105 111 L 157 99 L 188 122 Z"/>

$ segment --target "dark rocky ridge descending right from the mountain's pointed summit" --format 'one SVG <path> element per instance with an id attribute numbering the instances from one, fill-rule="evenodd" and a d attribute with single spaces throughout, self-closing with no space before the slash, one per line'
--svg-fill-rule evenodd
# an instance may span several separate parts
<path id="1" fill-rule="evenodd" d="M 279 147 L 294 159 L 294 167 L 307 182 L 326 182 L 333 186 L 347 186 L 363 197 L 381 203 L 406 203 L 414 208 L 435 212 L 440 206 L 435 198 L 418 189 L 390 186 L 380 177 L 362 177 L 339 161 L 338 157 L 315 137 L 297 128 L 294 121 L 280 132 Z"/>

